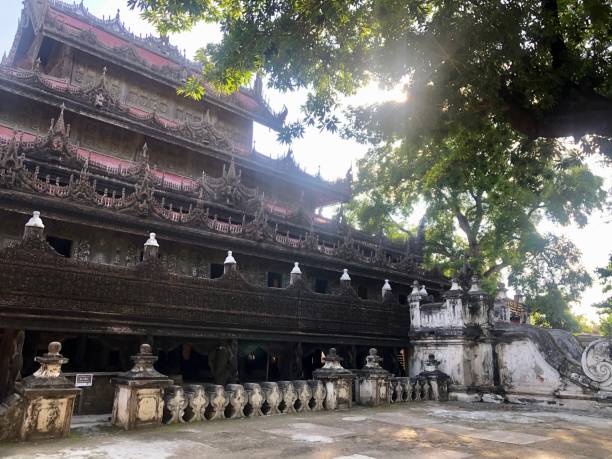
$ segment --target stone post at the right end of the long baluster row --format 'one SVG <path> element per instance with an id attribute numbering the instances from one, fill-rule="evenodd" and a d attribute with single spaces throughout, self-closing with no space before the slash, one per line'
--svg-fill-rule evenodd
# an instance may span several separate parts
<path id="1" fill-rule="evenodd" d="M 353 405 L 353 379 L 355 375 L 341 365 L 341 358 L 333 347 L 325 358 L 325 365 L 313 372 L 326 390 L 325 409 L 345 410 Z"/>

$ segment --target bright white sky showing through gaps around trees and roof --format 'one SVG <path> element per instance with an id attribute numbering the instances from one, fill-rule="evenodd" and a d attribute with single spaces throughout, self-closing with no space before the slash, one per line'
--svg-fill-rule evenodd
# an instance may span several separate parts
<path id="1" fill-rule="evenodd" d="M 124 23 L 137 33 L 153 33 L 153 28 L 140 19 L 138 13 L 130 11 L 126 6 L 126 0 L 85 0 L 85 6 L 96 16 L 115 16 L 117 9 L 121 10 L 121 18 Z M 0 53 L 10 50 L 17 22 L 21 12 L 21 0 L 3 0 L 2 15 L 0 15 Z M 207 42 L 218 41 L 221 35 L 214 25 L 199 25 L 192 31 L 174 35 L 171 42 L 185 49 L 188 56 L 193 56 L 195 51 Z M 303 104 L 305 93 L 296 92 L 280 94 L 266 90 L 266 95 L 275 109 L 286 105 L 289 109 L 288 120 L 297 118 L 300 106 Z M 345 103 L 358 105 L 364 103 L 380 102 L 402 97 L 401 85 L 393 91 L 385 91 L 376 84 L 362 89 L 357 95 L 347 99 Z M 256 125 L 255 146 L 258 151 L 270 156 L 278 156 L 286 151 L 286 147 L 276 142 L 276 134 L 269 129 Z M 311 173 L 316 173 L 321 168 L 321 175 L 327 179 L 343 177 L 346 171 L 358 158 L 367 151 L 366 145 L 354 141 L 341 139 L 337 135 L 328 132 L 319 132 L 316 128 L 306 130 L 304 138 L 294 142 L 292 146 L 294 156 L 300 165 Z M 612 189 L 612 168 L 603 168 L 593 161 L 594 170 L 606 177 L 607 189 Z M 420 216 L 415 216 L 418 220 Z M 612 252 L 612 237 L 610 237 L 612 216 L 607 212 L 594 214 L 590 222 L 584 228 L 575 225 L 559 227 L 551 223 L 543 225 L 546 231 L 563 234 L 571 239 L 582 251 L 583 263 L 590 271 L 607 264 L 608 255 Z M 596 310 L 591 304 L 599 302 L 604 295 L 601 285 L 595 281 L 593 287 L 585 291 L 582 302 L 577 305 L 575 312 L 586 315 L 589 319 L 598 321 Z"/>

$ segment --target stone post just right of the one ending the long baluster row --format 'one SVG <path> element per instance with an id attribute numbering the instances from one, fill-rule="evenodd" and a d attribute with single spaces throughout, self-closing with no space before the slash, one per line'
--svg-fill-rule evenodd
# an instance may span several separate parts
<path id="1" fill-rule="evenodd" d="M 391 374 L 380 366 L 380 362 L 382 362 L 382 357 L 378 355 L 375 348 L 371 348 L 366 357 L 365 367 L 355 371 L 357 375 L 355 398 L 360 405 L 378 406 L 390 402 L 389 378 Z"/>

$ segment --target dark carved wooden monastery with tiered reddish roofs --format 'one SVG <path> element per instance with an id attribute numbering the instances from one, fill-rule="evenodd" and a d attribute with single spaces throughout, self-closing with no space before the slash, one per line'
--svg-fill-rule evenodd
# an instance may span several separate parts
<path id="1" fill-rule="evenodd" d="M 93 374 L 81 413 L 110 411 L 109 380 L 142 343 L 175 381 L 311 378 L 330 346 L 347 368 L 375 346 L 405 375 L 413 281 L 434 298 L 448 286 L 421 268 L 420 238 L 323 218 L 351 198 L 350 176 L 253 148 L 254 122 L 278 130 L 286 116 L 259 79 L 177 96 L 199 71 L 119 14 L 24 1 L 0 66 L 0 375 L 31 374 L 61 341 L 64 371 Z M 40 243 L 22 240 L 33 211 Z"/>

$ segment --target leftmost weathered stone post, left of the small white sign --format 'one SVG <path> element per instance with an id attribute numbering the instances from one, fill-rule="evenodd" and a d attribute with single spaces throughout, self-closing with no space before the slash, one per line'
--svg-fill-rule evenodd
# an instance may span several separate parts
<path id="1" fill-rule="evenodd" d="M 59 353 L 61 349 L 60 343 L 50 343 L 48 352 L 34 359 L 40 368 L 22 382 L 19 389 L 25 400 L 22 440 L 63 438 L 70 433 L 74 400 L 81 389 L 62 375 L 62 365 L 68 359 Z"/>

